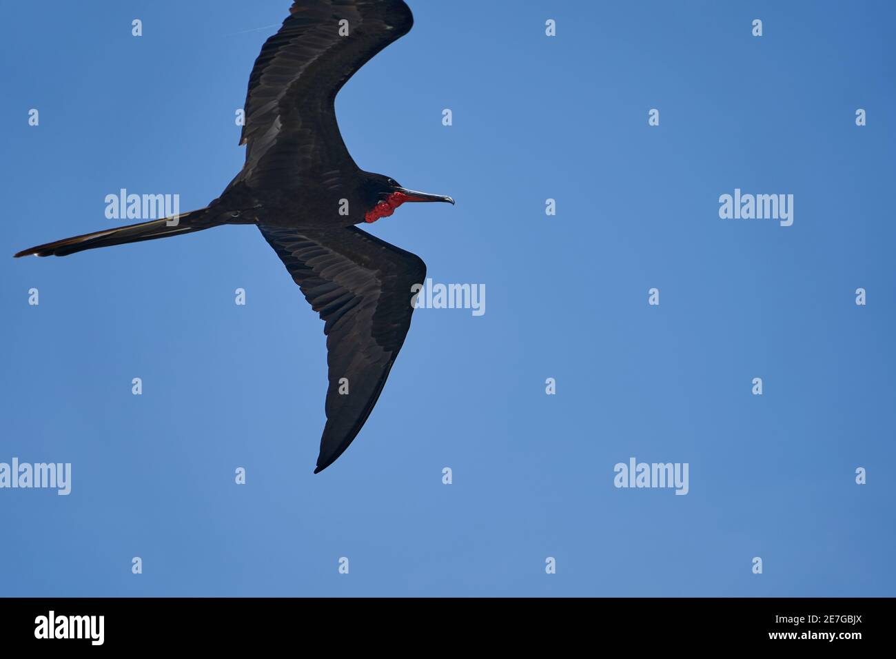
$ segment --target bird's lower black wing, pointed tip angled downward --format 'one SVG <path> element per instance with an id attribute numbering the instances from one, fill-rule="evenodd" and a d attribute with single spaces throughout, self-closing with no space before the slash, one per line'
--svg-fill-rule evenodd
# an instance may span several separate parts
<path id="1" fill-rule="evenodd" d="M 411 287 L 426 279 L 426 264 L 355 227 L 259 229 L 325 321 L 330 385 L 318 473 L 342 455 L 374 409 L 408 334 Z"/>

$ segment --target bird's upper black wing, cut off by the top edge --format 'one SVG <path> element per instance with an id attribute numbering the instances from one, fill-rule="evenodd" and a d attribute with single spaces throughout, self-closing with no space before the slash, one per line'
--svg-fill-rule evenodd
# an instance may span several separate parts
<path id="1" fill-rule="evenodd" d="M 300 186 L 309 169 L 354 165 L 336 123 L 336 94 L 413 23 L 402 0 L 293 3 L 249 76 L 240 180 L 254 188 L 284 189 Z"/>

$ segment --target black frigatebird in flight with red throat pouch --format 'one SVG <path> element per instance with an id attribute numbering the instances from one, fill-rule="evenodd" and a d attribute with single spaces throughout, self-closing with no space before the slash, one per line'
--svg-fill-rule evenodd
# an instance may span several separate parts
<path id="1" fill-rule="evenodd" d="M 240 139 L 246 163 L 217 199 L 175 218 L 15 255 L 67 256 L 223 224 L 256 225 L 325 323 L 327 421 L 314 473 L 342 455 L 373 410 L 408 334 L 411 289 L 426 278 L 419 256 L 355 225 L 392 215 L 405 202 L 454 203 L 358 168 L 336 122 L 342 86 L 413 22 L 401 0 L 297 0 L 255 60 Z"/>

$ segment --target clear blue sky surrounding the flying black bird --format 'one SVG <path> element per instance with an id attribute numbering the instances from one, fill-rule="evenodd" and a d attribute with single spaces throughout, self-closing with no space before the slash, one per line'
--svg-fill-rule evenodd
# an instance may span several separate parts
<path id="1" fill-rule="evenodd" d="M 0 462 L 73 484 L 0 490 L 0 594 L 896 594 L 893 5 L 409 4 L 342 134 L 457 200 L 371 230 L 487 313 L 419 310 L 318 475 L 323 324 L 257 230 L 10 257 L 217 196 L 289 0 L 4 4 Z M 736 187 L 793 226 L 719 219 Z M 631 456 L 690 492 L 617 490 Z"/>

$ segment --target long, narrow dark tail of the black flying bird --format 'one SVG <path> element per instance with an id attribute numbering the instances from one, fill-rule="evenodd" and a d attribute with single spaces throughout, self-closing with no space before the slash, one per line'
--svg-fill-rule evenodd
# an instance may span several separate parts
<path id="1" fill-rule="evenodd" d="M 22 249 L 15 257 L 32 254 L 34 256 L 68 256 L 75 252 L 83 252 L 85 249 L 124 245 L 125 243 L 136 243 L 141 240 L 155 240 L 156 238 L 168 238 L 168 236 L 179 236 L 182 233 L 201 231 L 217 224 L 216 222 L 209 223 L 207 221 L 205 217 L 207 210 L 207 208 L 201 208 L 198 211 L 185 212 L 178 216 L 176 220 L 163 218 L 161 220 L 142 222 L 141 224 L 130 224 L 126 227 L 117 227 L 116 229 L 85 233 L 83 236 L 64 238 L 46 245 Z"/>

